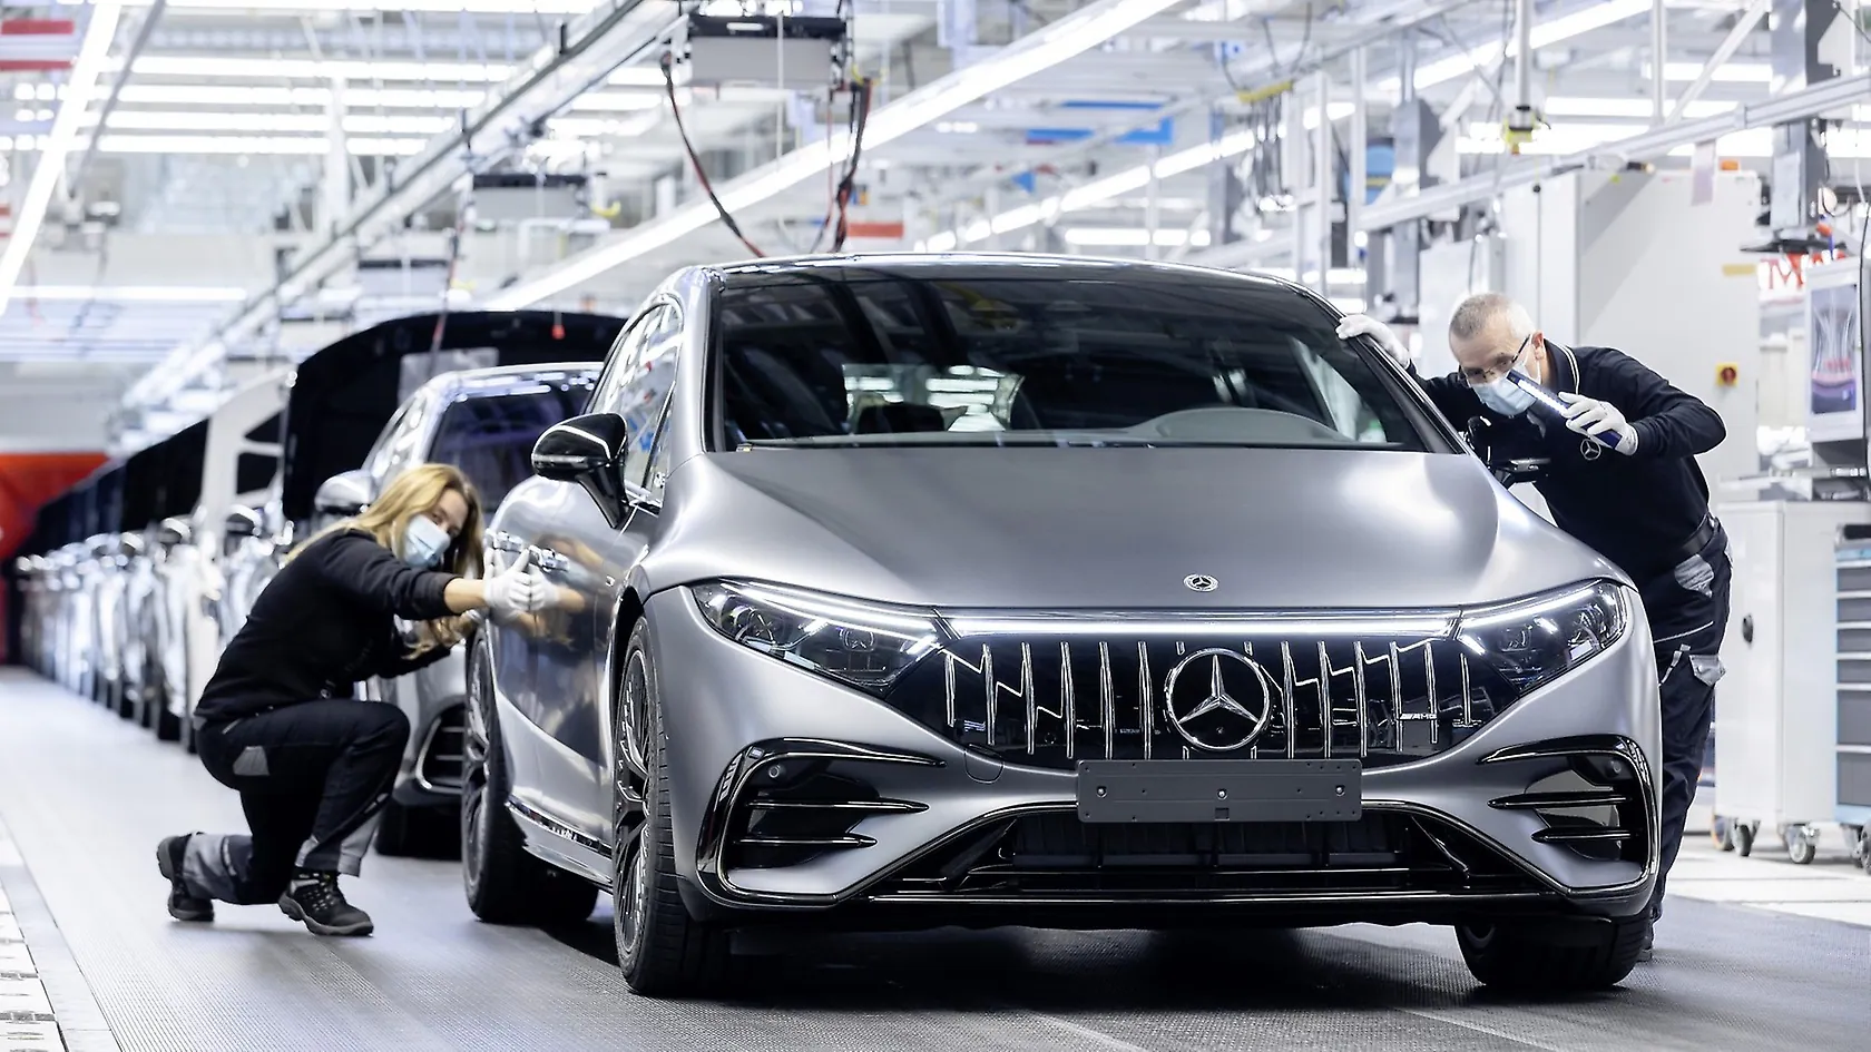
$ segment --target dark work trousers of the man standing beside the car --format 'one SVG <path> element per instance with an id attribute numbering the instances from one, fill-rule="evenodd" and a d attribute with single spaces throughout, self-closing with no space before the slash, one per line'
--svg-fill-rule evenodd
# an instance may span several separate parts
<path id="1" fill-rule="evenodd" d="M 1639 588 L 1663 696 L 1663 816 L 1658 829 L 1663 857 L 1650 897 L 1652 919 L 1663 915 L 1663 878 L 1676 863 L 1682 824 L 1703 773 L 1716 681 L 1723 674 L 1719 651 L 1729 625 L 1733 569 L 1729 535 L 1718 526 L 1701 552 Z"/>

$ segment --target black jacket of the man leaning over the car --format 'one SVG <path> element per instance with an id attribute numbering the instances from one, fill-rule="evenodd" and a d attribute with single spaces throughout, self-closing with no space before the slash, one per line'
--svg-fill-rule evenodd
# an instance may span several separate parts
<path id="1" fill-rule="evenodd" d="M 1504 417 L 1482 406 L 1461 374 L 1418 382 L 1456 427 L 1471 417 L 1493 425 L 1491 462 L 1551 460 L 1532 485 L 1560 530 L 1639 584 L 1669 571 L 1688 558 L 1678 548 L 1708 515 L 1708 481 L 1695 457 L 1721 446 L 1727 436 L 1721 416 L 1618 350 L 1555 343 L 1545 350 L 1553 371 L 1547 386 L 1617 406 L 1637 431 L 1635 453 L 1600 447 L 1544 406 Z"/>

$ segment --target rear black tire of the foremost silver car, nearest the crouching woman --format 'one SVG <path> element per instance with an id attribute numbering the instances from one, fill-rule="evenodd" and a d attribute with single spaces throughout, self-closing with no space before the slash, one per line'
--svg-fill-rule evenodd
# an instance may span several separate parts
<path id="1" fill-rule="evenodd" d="M 507 814 L 513 777 L 481 646 L 468 655 L 466 723 L 460 844 L 468 908 L 492 925 L 561 925 L 589 917 L 597 887 L 528 854 L 520 827 Z"/>

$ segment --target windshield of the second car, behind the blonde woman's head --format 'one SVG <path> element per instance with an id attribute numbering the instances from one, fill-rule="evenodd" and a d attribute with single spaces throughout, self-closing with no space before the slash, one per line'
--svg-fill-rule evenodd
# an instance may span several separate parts
<path id="1" fill-rule="evenodd" d="M 455 464 L 481 490 L 492 515 L 513 487 L 533 474 L 533 442 L 561 419 L 584 410 L 587 384 L 524 387 L 460 399 L 442 410 L 430 460 Z"/>

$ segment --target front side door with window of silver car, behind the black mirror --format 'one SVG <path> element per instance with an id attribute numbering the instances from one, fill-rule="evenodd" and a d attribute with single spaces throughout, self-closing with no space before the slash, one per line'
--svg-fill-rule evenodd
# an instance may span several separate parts
<path id="1" fill-rule="evenodd" d="M 546 730 L 543 775 L 563 801 L 561 818 L 597 840 L 610 839 L 610 709 L 608 687 L 616 640 L 617 597 L 631 563 L 644 550 L 647 511 L 644 483 L 651 449 L 668 406 L 681 337 L 675 303 L 653 303 L 632 328 L 625 356 L 606 371 L 587 414 L 612 412 L 625 419 L 629 447 L 623 487 L 629 498 L 621 524 L 606 517 L 582 487 L 565 515 L 543 533 L 535 558 L 548 582 L 573 601 L 559 612 L 561 631 L 543 638 L 541 668 L 558 691 L 541 706 Z"/>

